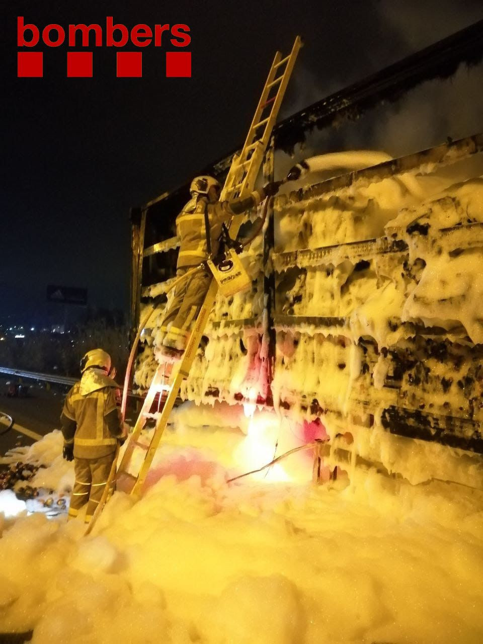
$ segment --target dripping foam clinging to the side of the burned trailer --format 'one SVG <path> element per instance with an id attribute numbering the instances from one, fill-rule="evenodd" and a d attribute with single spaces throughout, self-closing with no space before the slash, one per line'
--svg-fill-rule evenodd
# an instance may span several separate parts
<path id="1" fill-rule="evenodd" d="M 477 354 L 483 341 L 483 155 L 450 157 L 446 166 L 425 164 L 383 180 L 373 171 L 371 180 L 355 177 L 354 184 L 318 196 L 300 196 L 288 192 L 294 184 L 285 185 L 287 192 L 276 198 L 275 252 L 266 267 L 272 261 L 276 270 L 270 391 L 259 236 L 244 253 L 252 290 L 217 299 L 205 355 L 198 353 L 182 396 L 197 404 L 243 399 L 254 408 L 271 393 L 275 408 L 291 419 L 325 413 L 331 439 L 351 431 L 357 455 L 388 472 L 411 482 L 441 478 L 481 487 L 480 455 L 387 435 L 382 425 L 390 406 L 426 410 L 443 424 L 448 417 L 463 423 L 483 418 Z M 319 156 L 309 160 L 310 181 L 317 181 L 317 172 L 327 177 L 331 168 L 387 158 L 366 151 Z M 350 245 L 364 240 L 407 248 L 376 247 L 349 259 Z M 331 249 L 325 263 L 312 253 L 320 247 Z M 304 249 L 308 261 L 297 255 L 287 269 L 283 254 Z M 159 316 L 137 369 L 142 386 L 158 366 Z M 408 357 L 422 376 L 404 365 Z"/>

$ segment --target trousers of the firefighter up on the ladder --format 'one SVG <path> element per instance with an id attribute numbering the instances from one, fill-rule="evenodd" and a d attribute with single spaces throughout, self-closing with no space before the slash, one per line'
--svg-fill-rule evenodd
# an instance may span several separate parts
<path id="1" fill-rule="evenodd" d="M 176 278 L 183 276 L 193 266 L 176 270 Z M 162 330 L 166 333 L 162 345 L 184 350 L 191 327 L 198 317 L 211 283 L 211 273 L 200 270 L 175 287 L 171 305 L 164 315 Z M 168 326 L 170 325 L 170 326 Z"/>

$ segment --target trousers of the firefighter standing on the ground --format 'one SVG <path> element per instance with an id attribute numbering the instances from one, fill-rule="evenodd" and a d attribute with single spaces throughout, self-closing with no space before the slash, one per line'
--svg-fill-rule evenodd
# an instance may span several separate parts
<path id="1" fill-rule="evenodd" d="M 88 523 L 99 504 L 108 482 L 116 453 L 113 451 L 99 459 L 74 459 L 75 482 L 70 497 L 69 518 L 74 518 L 85 504 Z"/>

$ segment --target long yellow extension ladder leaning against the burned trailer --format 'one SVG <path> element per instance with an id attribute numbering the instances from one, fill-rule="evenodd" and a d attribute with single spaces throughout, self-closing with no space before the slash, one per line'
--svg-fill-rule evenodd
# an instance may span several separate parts
<path id="1" fill-rule="evenodd" d="M 235 156 L 232 160 L 232 164 L 220 196 L 221 200 L 231 200 L 237 197 L 243 198 L 252 192 L 301 45 L 301 39 L 297 36 L 289 55 L 282 58 L 280 52 L 276 53 L 248 131 L 247 138 L 243 144 L 242 151 L 240 155 Z M 229 226 L 232 239 L 236 238 L 240 225 L 242 224 L 243 217 L 244 214 L 233 216 L 231 225 Z M 128 446 L 126 447 L 126 451 L 124 452 L 124 456 L 122 457 L 117 471 L 118 477 L 123 478 L 123 488 L 129 489 L 130 487 L 131 494 L 140 494 L 142 490 L 147 473 L 151 467 L 151 462 L 153 461 L 156 449 L 160 443 L 162 433 L 166 428 L 169 415 L 173 410 L 181 383 L 189 375 L 189 370 L 193 364 L 196 351 L 198 350 L 198 345 L 200 344 L 211 308 L 213 307 L 217 290 L 218 285 L 216 280 L 212 279 L 179 368 L 178 365 L 173 368 L 169 385 L 166 385 L 165 383 L 166 365 L 160 365 L 153 377 L 151 385 L 149 386 L 141 412 L 135 423 L 133 432 L 129 437 Z M 137 345 L 137 342 L 135 342 L 135 345 Z M 135 350 L 135 346 L 133 346 L 133 350 Z M 128 377 L 128 375 L 126 375 L 126 377 Z M 138 442 L 138 439 L 140 438 L 141 431 L 144 428 L 147 419 L 152 417 L 149 412 L 155 400 L 156 393 L 159 393 L 161 398 L 164 391 L 166 391 L 166 401 L 164 402 L 162 411 L 155 415 L 156 426 L 153 430 L 151 442 L 146 446 L 145 444 Z M 146 455 L 138 474 L 131 475 L 131 473 L 128 472 L 128 466 L 136 446 L 146 450 Z M 107 492 L 108 486 L 106 486 L 105 498 L 101 499 L 97 511 L 88 527 L 88 532 L 91 531 L 95 520 L 97 520 L 97 516 L 99 516 L 99 513 L 102 510 L 102 506 L 108 499 Z"/>

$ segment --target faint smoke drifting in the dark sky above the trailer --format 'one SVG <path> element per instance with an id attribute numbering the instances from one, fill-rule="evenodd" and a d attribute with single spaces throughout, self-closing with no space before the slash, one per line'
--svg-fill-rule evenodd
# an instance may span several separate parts
<path id="1" fill-rule="evenodd" d="M 381 24 L 402 45 L 404 53 L 399 58 L 483 18 L 482 5 L 476 1 L 463 5 L 452 0 L 406 0 L 404 3 L 384 0 L 376 6 Z M 288 113 L 341 88 L 332 86 L 322 92 L 322 77 L 322 69 L 317 74 L 303 68 L 296 75 L 297 96 L 291 97 Z M 483 65 L 468 68 L 462 64 L 450 79 L 425 82 L 397 102 L 381 104 L 355 121 L 341 123 L 337 129 L 314 129 L 306 133 L 305 144 L 297 146 L 291 157 L 281 151 L 276 153 L 276 177 L 285 176 L 295 162 L 323 153 L 373 149 L 397 157 L 436 146 L 448 137 L 456 140 L 480 133 L 483 131 L 482 87 Z"/>

